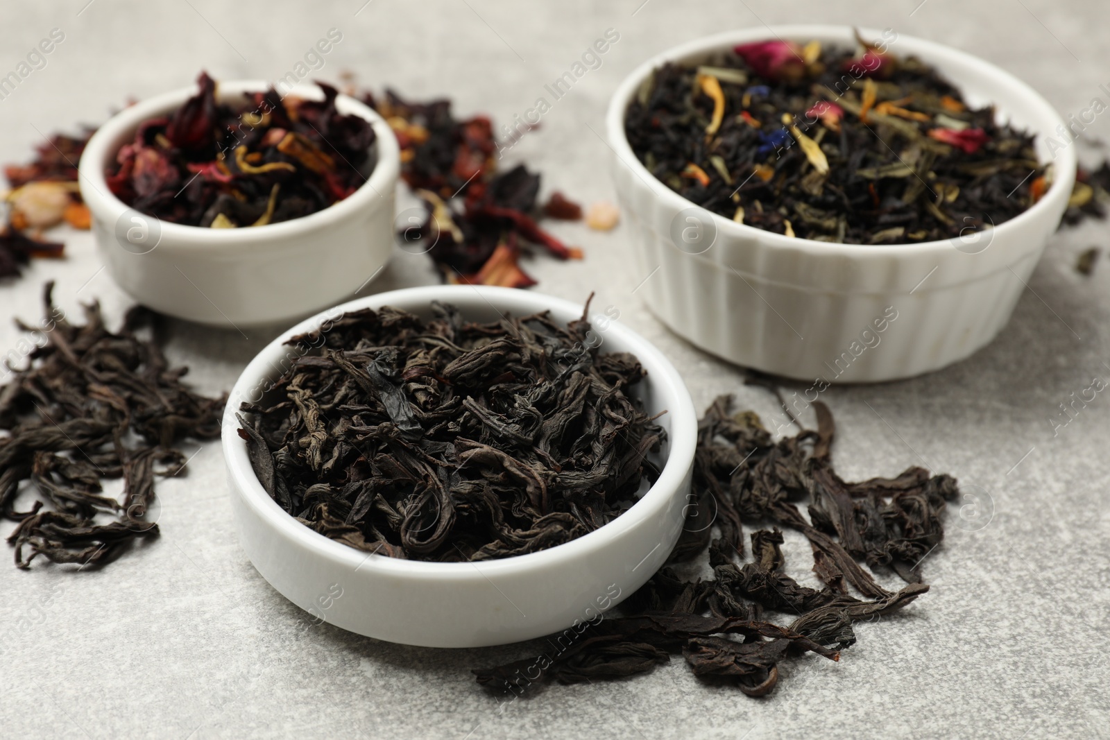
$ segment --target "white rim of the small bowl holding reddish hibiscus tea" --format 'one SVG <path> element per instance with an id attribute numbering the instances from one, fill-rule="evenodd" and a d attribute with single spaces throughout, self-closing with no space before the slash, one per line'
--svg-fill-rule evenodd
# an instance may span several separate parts
<path id="1" fill-rule="evenodd" d="M 244 92 L 264 92 L 270 88 L 271 83 L 263 80 L 218 82 L 216 98 L 226 99 Z M 189 98 L 195 95 L 198 90 L 199 85 L 194 84 L 190 88 L 182 88 L 154 95 L 134 105 L 130 105 L 110 118 L 89 139 L 81 154 L 79 175 L 82 185 L 81 196 L 89 204 L 94 216 L 98 212 L 111 212 L 118 215 L 132 210 L 131 206 L 118 199 L 108 189 L 104 175 L 109 162 L 114 161 L 120 146 L 122 146 L 122 143 L 119 143 L 121 136 L 128 131 L 133 132 L 144 121 L 172 111 Z M 323 98 L 323 91 L 319 87 L 305 83 L 295 85 L 287 94 L 295 94 L 313 100 L 321 100 Z M 365 207 L 366 203 L 374 197 L 392 194 L 390 191 L 393 189 L 392 181 L 400 169 L 401 150 L 397 146 L 396 136 L 393 135 L 390 124 L 385 122 L 385 119 L 377 111 L 350 95 L 340 94 L 335 100 L 335 104 L 336 108 L 341 109 L 341 112 L 357 115 L 369 121 L 374 129 L 374 146 L 377 155 L 374 170 L 370 173 L 370 178 L 355 192 L 342 201 L 337 201 L 326 209 L 310 213 L 306 216 L 250 229 L 206 229 L 203 226 L 186 226 L 184 224 L 170 223 L 159 219 L 162 230 L 162 241 L 172 241 L 179 244 L 188 243 L 190 247 L 228 249 L 258 244 L 264 246 L 271 239 L 307 235 L 322 226 L 343 221 L 354 215 L 360 209 Z M 84 185 L 89 185 L 89 187 Z"/>

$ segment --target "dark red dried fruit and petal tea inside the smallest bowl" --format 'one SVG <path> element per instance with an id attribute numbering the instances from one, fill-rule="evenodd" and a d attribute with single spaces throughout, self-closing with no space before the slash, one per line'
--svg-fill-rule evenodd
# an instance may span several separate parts
<path id="1" fill-rule="evenodd" d="M 320 84 L 321 101 L 271 89 L 229 105 L 208 74 L 198 84 L 172 114 L 143 123 L 105 173 L 137 211 L 188 226 L 264 226 L 326 209 L 366 182 L 374 130 L 335 110 L 331 85 Z"/>

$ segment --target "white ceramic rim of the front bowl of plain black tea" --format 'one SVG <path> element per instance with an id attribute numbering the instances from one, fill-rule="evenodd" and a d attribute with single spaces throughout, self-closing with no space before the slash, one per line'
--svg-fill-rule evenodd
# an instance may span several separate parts
<path id="1" fill-rule="evenodd" d="M 258 476 L 255 476 L 254 469 L 251 467 L 251 460 L 246 453 L 246 443 L 240 438 L 236 432 L 240 424 L 239 419 L 235 418 L 235 413 L 239 410 L 238 399 L 246 398 L 248 393 L 268 379 L 269 373 L 266 371 L 271 368 L 271 363 L 278 357 L 283 356 L 286 352 L 284 342 L 292 336 L 317 328 L 324 322 L 329 321 L 329 318 L 334 320 L 336 312 L 345 314 L 361 308 L 376 310 L 381 306 L 397 304 L 427 306 L 431 305 L 432 301 L 452 303 L 453 301 L 458 301 L 457 296 L 465 296 L 467 300 L 471 300 L 473 297 L 471 291 L 477 291 L 478 295 L 494 307 L 495 311 L 511 312 L 514 316 L 526 316 L 545 310 L 566 313 L 566 315 L 582 314 L 581 305 L 563 298 L 518 288 L 484 285 L 406 287 L 350 301 L 334 308 L 321 312 L 311 318 L 306 318 L 268 344 L 248 364 L 229 396 L 228 406 L 223 415 L 221 443 L 233 484 L 242 491 L 245 503 L 276 534 L 285 539 L 295 540 L 296 545 L 319 557 L 331 559 L 339 565 L 376 571 L 379 575 L 434 580 L 450 578 L 467 581 L 517 570 L 533 570 L 536 575 L 541 575 L 548 566 L 557 566 L 603 551 L 607 545 L 617 539 L 623 533 L 646 519 L 659 516 L 664 511 L 670 497 L 675 495 L 682 485 L 694 460 L 694 450 L 697 444 L 697 413 L 686 384 L 683 382 L 678 371 L 670 364 L 670 361 L 650 342 L 618 322 L 609 324 L 606 334 L 618 336 L 623 343 L 629 346 L 628 351 L 636 355 L 636 358 L 639 359 L 644 369 L 648 373 L 644 382 L 658 384 L 677 403 L 674 404 L 674 407 L 669 404 L 667 405 L 667 416 L 670 417 L 670 429 L 667 435 L 668 450 L 667 459 L 660 470 L 659 478 L 632 508 L 605 526 L 569 543 L 556 545 L 538 553 L 483 560 L 482 571 L 476 572 L 473 567 L 474 564 L 471 561 L 432 562 L 425 560 L 403 560 L 384 555 L 372 555 L 369 557 L 367 553 L 313 531 L 286 514 L 270 497 L 270 494 L 259 483 Z"/>

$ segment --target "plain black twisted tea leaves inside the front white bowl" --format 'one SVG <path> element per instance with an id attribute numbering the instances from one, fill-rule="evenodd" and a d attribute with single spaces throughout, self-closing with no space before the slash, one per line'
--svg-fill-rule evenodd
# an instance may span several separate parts
<path id="1" fill-rule="evenodd" d="M 433 307 L 364 310 L 290 341 L 302 356 L 240 415 L 283 509 L 362 550 L 483 560 L 581 537 L 657 479 L 665 432 L 629 395 L 645 372 L 586 348 L 585 314 L 477 324 Z"/>

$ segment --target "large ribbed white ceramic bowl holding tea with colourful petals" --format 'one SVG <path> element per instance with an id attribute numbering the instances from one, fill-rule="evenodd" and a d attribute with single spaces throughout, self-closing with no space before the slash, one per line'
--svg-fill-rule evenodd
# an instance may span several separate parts
<path id="1" fill-rule="evenodd" d="M 616 153 L 614 179 L 632 224 L 639 274 L 650 274 L 640 288 L 645 303 L 703 349 L 803 381 L 889 381 L 967 357 L 1006 325 L 1067 206 L 1074 149 L 1060 150 L 1052 160 L 1046 142 L 1059 136 L 1056 128 L 1063 121 L 1037 92 L 997 67 L 899 36 L 889 45 L 892 53 L 917 55 L 955 83 L 969 103 L 995 103 L 1001 119 L 1038 135 L 1038 155 L 1052 161 L 1054 170 L 1045 196 L 997 229 L 920 244 L 830 244 L 737 224 L 695 206 L 648 173 L 628 145 L 625 111 L 640 83 L 664 62 L 696 63 L 738 43 L 775 37 L 855 43 L 849 27 L 729 31 L 649 59 L 613 97 L 606 125 Z M 882 34 L 865 29 L 862 37 Z M 679 245 L 683 237 L 672 236 L 676 223 L 700 226 L 702 241 L 692 240 L 693 249 Z M 876 331 L 877 321 L 885 331 Z M 821 387 L 815 383 L 816 391 Z"/>

